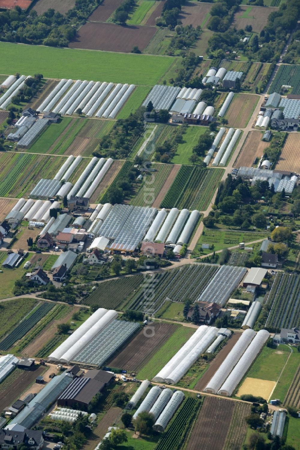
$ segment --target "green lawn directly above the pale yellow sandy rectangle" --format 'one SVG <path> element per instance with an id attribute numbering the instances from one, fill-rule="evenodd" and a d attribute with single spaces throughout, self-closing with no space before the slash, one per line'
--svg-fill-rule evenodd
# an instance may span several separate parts
<path id="1" fill-rule="evenodd" d="M 286 345 L 281 344 L 277 348 L 264 346 L 260 355 L 247 373 L 247 377 L 277 381 L 283 366 L 287 362 L 289 354 L 290 349 Z"/>

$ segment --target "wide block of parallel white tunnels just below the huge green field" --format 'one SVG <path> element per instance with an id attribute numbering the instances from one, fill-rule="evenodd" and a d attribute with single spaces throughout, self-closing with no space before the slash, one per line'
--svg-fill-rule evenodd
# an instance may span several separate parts
<path id="1" fill-rule="evenodd" d="M 81 109 L 87 116 L 114 119 L 134 90 L 134 85 L 106 81 L 63 79 L 38 106 L 39 112 L 72 115 Z"/>

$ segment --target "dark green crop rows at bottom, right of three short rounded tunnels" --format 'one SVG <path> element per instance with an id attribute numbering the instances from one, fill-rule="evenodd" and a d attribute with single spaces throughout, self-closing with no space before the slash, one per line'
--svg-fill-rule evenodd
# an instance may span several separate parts
<path id="1" fill-rule="evenodd" d="M 185 438 L 200 407 L 201 401 L 188 397 L 170 423 L 167 431 L 158 441 L 155 450 L 179 450 L 183 448 Z"/>

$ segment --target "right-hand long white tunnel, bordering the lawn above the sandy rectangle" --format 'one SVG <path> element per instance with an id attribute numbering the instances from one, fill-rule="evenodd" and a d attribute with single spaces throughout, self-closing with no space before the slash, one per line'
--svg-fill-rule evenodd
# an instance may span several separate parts
<path id="1" fill-rule="evenodd" d="M 246 331 L 244 333 L 246 333 Z M 220 387 L 218 394 L 225 396 L 232 395 L 234 389 L 246 374 L 247 370 L 255 360 L 256 356 L 259 354 L 269 336 L 270 333 L 267 330 L 260 330 L 256 334 L 255 338 L 246 349 L 245 353 L 242 355 L 241 359 L 238 361 L 231 374 L 225 380 L 225 383 Z"/>

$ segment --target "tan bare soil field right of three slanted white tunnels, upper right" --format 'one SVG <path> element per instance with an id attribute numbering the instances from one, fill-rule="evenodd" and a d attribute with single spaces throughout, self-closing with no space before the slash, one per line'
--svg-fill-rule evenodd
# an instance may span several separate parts
<path id="1" fill-rule="evenodd" d="M 270 145 L 269 142 L 262 141 L 262 137 L 263 134 L 260 131 L 249 131 L 234 167 L 251 167 L 256 157 L 262 157 L 265 148 Z"/>

